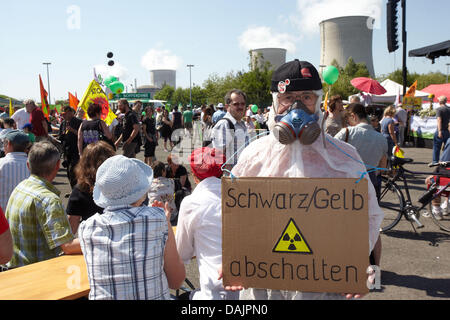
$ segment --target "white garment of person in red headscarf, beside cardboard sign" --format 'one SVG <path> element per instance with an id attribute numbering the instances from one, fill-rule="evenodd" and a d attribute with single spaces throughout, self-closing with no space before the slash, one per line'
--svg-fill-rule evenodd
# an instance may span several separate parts
<path id="1" fill-rule="evenodd" d="M 218 270 L 222 266 L 221 181 L 206 178 L 183 199 L 176 232 L 178 253 L 185 264 L 197 257 L 200 290 L 192 300 L 237 300 L 238 292 L 225 291 Z"/>

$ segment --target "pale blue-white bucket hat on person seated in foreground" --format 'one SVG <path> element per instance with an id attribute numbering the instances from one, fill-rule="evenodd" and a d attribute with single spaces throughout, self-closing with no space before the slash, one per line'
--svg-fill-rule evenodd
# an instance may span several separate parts
<path id="1" fill-rule="evenodd" d="M 122 155 L 108 158 L 97 170 L 93 198 L 102 208 L 130 205 L 152 185 L 153 170 L 138 159 Z"/>

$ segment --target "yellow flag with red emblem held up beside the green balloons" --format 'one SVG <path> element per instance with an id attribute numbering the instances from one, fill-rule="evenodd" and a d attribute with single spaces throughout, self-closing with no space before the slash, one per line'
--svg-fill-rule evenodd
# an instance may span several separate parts
<path id="1" fill-rule="evenodd" d="M 103 92 L 102 87 L 100 87 L 98 82 L 95 80 L 92 80 L 92 82 L 89 84 L 88 89 L 86 90 L 83 98 L 78 104 L 78 108 L 82 108 L 86 112 L 87 116 L 87 109 L 93 103 L 98 104 L 102 108 L 101 119 L 105 121 L 106 125 L 111 125 L 111 123 L 117 116 L 109 107 L 108 97 Z"/>

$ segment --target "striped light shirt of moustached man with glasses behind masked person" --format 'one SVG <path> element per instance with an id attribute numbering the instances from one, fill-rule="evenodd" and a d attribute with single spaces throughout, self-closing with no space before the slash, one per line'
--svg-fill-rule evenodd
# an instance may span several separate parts
<path id="1" fill-rule="evenodd" d="M 228 121 L 223 120 L 224 118 L 231 120 L 234 125 L 234 132 L 230 129 Z M 214 126 L 211 137 L 215 149 L 222 151 L 225 149 L 227 164 L 231 164 L 232 166 L 237 163 L 242 150 L 250 142 L 245 123 L 243 121 L 236 121 L 229 112 Z"/>

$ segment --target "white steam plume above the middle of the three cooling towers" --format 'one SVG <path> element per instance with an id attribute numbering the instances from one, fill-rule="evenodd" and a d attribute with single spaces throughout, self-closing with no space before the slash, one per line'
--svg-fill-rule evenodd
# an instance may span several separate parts
<path id="1" fill-rule="evenodd" d="M 250 27 L 239 36 L 239 45 L 245 50 L 259 48 L 284 48 L 295 52 L 295 37 L 287 33 L 277 33 L 270 27 Z"/>

